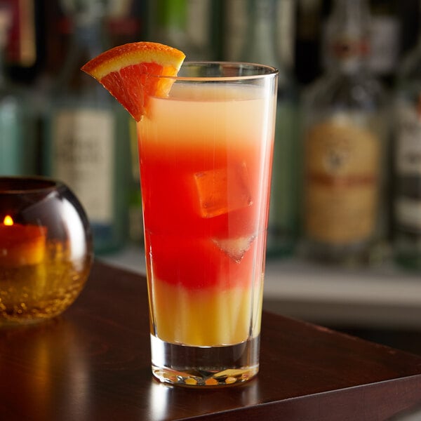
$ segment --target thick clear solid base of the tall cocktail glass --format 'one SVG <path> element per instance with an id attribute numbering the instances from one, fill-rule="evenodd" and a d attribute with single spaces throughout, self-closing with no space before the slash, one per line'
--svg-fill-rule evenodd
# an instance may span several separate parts
<path id="1" fill-rule="evenodd" d="M 260 337 L 236 345 L 189 347 L 151 335 L 152 373 L 163 383 L 185 387 L 224 387 L 258 374 Z"/>

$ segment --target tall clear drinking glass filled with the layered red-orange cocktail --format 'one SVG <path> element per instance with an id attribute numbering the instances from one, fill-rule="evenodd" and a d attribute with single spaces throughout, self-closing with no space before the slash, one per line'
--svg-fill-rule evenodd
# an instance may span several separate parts
<path id="1" fill-rule="evenodd" d="M 259 367 L 277 71 L 187 62 L 157 83 L 168 98 L 138 122 L 152 372 L 245 382 Z"/>

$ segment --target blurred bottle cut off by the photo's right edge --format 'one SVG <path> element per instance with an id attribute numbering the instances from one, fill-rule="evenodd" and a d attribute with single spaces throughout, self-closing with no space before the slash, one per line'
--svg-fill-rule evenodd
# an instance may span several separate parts
<path id="1" fill-rule="evenodd" d="M 399 68 L 394 127 L 394 253 L 421 270 L 421 32 Z"/>

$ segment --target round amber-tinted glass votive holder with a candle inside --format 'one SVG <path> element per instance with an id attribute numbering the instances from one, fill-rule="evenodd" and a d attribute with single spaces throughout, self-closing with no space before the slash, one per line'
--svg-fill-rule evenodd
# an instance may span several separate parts
<path id="1" fill-rule="evenodd" d="M 67 185 L 0 177 L 0 326 L 64 312 L 83 289 L 92 260 L 88 218 Z"/>

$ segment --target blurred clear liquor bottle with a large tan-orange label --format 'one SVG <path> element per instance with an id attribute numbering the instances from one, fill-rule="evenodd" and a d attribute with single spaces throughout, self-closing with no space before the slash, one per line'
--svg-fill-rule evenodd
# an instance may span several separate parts
<path id="1" fill-rule="evenodd" d="M 326 73 L 305 93 L 303 250 L 342 264 L 382 260 L 387 100 L 368 66 L 366 0 L 335 0 Z"/>

